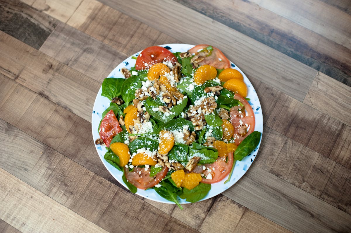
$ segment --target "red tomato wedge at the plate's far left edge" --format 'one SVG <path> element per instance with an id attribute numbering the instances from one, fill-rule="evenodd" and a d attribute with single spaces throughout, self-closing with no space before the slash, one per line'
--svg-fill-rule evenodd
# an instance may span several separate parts
<path id="1" fill-rule="evenodd" d="M 119 126 L 116 115 L 114 115 L 113 110 L 107 112 L 106 116 L 102 119 L 99 135 L 104 141 L 107 147 L 110 146 L 112 138 L 121 132 L 122 128 Z"/>

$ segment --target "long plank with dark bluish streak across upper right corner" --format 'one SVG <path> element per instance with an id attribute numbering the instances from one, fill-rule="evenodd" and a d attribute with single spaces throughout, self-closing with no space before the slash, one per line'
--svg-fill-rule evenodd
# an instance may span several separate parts
<path id="1" fill-rule="evenodd" d="M 351 50 L 251 1 L 185 1 L 180 4 L 351 85 Z"/>

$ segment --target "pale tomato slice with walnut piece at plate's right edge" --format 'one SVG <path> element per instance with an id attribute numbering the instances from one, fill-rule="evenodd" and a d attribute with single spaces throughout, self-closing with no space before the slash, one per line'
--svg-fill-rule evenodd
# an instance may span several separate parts
<path id="1" fill-rule="evenodd" d="M 240 101 L 245 107 L 245 110 L 240 106 L 234 106 L 230 109 L 230 122 L 234 126 L 233 138 L 235 144 L 239 145 L 244 138 L 254 131 L 255 117 L 251 105 L 244 97 L 235 94 L 234 99 Z M 249 130 L 247 130 L 247 128 L 249 128 Z"/>

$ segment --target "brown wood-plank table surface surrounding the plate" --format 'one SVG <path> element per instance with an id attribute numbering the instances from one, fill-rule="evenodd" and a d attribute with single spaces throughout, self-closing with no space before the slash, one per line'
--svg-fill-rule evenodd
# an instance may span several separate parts
<path id="1" fill-rule="evenodd" d="M 0 232 L 351 232 L 348 0 L 0 1 Z M 249 77 L 264 131 L 224 193 L 125 190 L 94 148 L 102 80 L 139 50 L 212 44 Z"/>

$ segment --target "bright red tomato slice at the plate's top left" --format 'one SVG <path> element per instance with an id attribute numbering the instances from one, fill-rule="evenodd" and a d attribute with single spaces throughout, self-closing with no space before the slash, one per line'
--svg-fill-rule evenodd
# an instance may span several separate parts
<path id="1" fill-rule="evenodd" d="M 153 64 L 163 61 L 170 61 L 176 64 L 177 57 L 173 55 L 168 49 L 160 46 L 151 46 L 143 50 L 137 57 L 135 62 L 135 69 L 145 70 L 149 69 Z"/>

